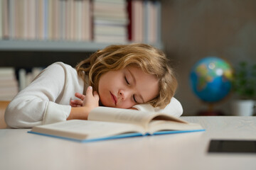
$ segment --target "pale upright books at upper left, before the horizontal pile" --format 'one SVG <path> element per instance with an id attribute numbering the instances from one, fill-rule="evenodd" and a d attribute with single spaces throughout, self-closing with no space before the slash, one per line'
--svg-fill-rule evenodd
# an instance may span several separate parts
<path id="1" fill-rule="evenodd" d="M 0 38 L 91 40 L 90 0 L 1 0 Z"/>

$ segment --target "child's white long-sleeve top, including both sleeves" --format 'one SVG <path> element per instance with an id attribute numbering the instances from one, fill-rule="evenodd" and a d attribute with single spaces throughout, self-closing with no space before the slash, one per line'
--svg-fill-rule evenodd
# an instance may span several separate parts
<path id="1" fill-rule="evenodd" d="M 78 77 L 73 67 L 55 62 L 14 97 L 6 108 L 6 124 L 10 128 L 32 128 L 35 125 L 65 121 L 71 111 L 70 100 L 76 99 L 76 92 L 83 94 L 87 86 L 87 82 Z M 162 110 L 149 104 L 134 108 L 170 113 L 176 117 L 183 113 L 181 103 L 176 98 L 172 98 L 171 103 Z"/>

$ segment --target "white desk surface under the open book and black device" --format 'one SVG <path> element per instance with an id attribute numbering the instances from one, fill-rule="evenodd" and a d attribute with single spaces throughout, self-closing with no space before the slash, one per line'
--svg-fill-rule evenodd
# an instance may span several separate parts
<path id="1" fill-rule="evenodd" d="M 208 154 L 210 139 L 256 140 L 256 117 L 181 117 L 206 132 L 78 143 L 0 130 L 0 169 L 255 169 L 256 154 Z"/>

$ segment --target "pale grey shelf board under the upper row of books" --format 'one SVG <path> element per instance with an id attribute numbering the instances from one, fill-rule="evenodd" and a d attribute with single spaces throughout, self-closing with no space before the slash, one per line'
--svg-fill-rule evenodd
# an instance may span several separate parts
<path id="1" fill-rule="evenodd" d="M 127 42 L 124 44 L 129 44 Z M 104 42 L 81 42 L 81 41 L 40 41 L 40 40 L 0 40 L 0 51 L 75 51 L 94 52 L 101 50 L 108 45 L 121 43 Z M 161 42 L 154 44 L 154 47 L 163 49 Z"/>

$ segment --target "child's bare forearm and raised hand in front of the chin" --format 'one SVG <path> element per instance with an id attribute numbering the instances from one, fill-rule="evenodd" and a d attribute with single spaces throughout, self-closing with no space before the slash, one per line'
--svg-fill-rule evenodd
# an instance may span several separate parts
<path id="1" fill-rule="evenodd" d="M 83 101 L 82 105 L 79 105 L 80 107 L 73 107 L 71 108 L 70 115 L 68 116 L 67 120 L 71 119 L 85 119 L 87 120 L 87 117 L 92 111 L 93 108 L 96 108 L 99 106 L 99 95 L 97 94 L 97 91 L 92 92 L 92 86 L 89 86 L 86 91 L 86 95 L 78 94 L 80 98 Z"/>

